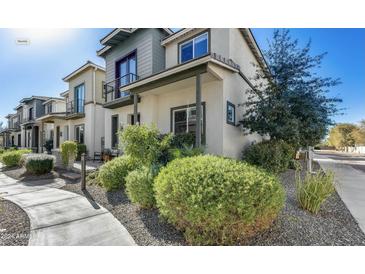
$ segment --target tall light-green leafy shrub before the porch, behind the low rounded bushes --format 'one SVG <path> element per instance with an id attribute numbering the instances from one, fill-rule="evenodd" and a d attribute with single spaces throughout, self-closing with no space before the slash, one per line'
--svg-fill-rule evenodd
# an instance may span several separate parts
<path id="1" fill-rule="evenodd" d="M 157 163 L 162 151 L 169 148 L 172 135 L 160 138 L 155 126 L 130 125 L 120 133 L 124 153 L 142 165 Z"/>

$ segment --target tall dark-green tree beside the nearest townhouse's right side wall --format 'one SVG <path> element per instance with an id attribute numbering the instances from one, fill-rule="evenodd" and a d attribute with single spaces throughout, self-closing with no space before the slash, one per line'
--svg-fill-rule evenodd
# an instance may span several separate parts
<path id="1" fill-rule="evenodd" d="M 295 146 L 315 145 L 325 137 L 341 102 L 326 93 L 340 81 L 316 74 L 325 53 L 311 56 L 310 45 L 300 48 L 288 30 L 274 32 L 264 51 L 269 71 L 254 65 L 253 88 L 242 104 L 240 122 L 248 133 L 268 134 Z"/>

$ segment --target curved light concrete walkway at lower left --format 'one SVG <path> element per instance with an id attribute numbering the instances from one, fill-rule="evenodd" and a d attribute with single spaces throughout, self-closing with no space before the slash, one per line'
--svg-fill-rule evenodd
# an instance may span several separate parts
<path id="1" fill-rule="evenodd" d="M 29 245 L 135 245 L 124 226 L 105 208 L 58 189 L 20 182 L 0 172 L 0 196 L 19 205 L 30 219 Z"/>

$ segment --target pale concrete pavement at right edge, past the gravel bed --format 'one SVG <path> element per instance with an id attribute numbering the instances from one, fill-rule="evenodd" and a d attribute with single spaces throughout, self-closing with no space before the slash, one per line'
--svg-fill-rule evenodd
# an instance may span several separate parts
<path id="1" fill-rule="evenodd" d="M 337 193 L 365 233 L 365 158 L 317 152 L 314 160 L 335 173 Z"/>

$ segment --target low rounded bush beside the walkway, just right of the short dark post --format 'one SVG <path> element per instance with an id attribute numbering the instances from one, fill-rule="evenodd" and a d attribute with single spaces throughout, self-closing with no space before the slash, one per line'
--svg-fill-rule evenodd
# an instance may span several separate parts
<path id="1" fill-rule="evenodd" d="M 125 177 L 136 165 L 129 156 L 114 158 L 100 168 L 98 180 L 108 191 L 117 190 L 124 186 Z"/>

